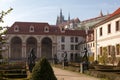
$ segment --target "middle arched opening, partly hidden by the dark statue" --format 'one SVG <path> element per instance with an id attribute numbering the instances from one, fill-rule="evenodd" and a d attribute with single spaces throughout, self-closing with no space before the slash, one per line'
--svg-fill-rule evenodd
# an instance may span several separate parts
<path id="1" fill-rule="evenodd" d="M 35 55 L 37 54 L 37 40 L 34 38 L 34 37 L 30 37 L 27 39 L 27 47 L 26 47 L 26 54 L 27 54 L 27 57 L 30 53 L 30 50 L 32 48 L 34 48 L 34 52 L 35 52 Z M 37 56 L 37 55 L 36 55 Z"/>

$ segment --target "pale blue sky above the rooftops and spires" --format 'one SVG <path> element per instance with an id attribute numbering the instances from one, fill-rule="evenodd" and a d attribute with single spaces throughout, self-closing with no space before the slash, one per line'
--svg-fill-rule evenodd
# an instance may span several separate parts
<path id="1" fill-rule="evenodd" d="M 4 17 L 0 26 L 11 26 L 16 21 L 47 22 L 56 24 L 62 9 L 65 19 L 79 18 L 80 21 L 112 13 L 120 7 L 120 0 L 0 0 L 0 12 L 13 8 Z"/>

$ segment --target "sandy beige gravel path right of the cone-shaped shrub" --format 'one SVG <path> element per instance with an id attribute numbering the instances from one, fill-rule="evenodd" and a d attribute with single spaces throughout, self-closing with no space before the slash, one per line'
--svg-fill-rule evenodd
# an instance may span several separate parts
<path id="1" fill-rule="evenodd" d="M 55 67 L 53 67 L 53 70 L 58 80 L 100 80 L 98 78 Z"/>

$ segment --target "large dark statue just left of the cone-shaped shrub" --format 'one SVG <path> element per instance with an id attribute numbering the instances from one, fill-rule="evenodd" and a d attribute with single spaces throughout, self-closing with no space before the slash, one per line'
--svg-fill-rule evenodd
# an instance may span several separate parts
<path id="1" fill-rule="evenodd" d="M 28 67 L 30 72 L 32 72 L 32 69 L 35 66 L 35 59 L 36 59 L 36 56 L 35 56 L 34 48 L 32 48 L 28 55 Z"/>

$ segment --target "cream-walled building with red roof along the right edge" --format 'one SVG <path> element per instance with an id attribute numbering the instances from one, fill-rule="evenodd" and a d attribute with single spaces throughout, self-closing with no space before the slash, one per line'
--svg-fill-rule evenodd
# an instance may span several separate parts
<path id="1" fill-rule="evenodd" d="M 96 59 L 107 55 L 109 63 L 112 57 L 120 60 L 120 8 L 94 27 Z"/>

